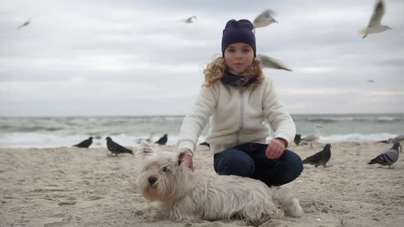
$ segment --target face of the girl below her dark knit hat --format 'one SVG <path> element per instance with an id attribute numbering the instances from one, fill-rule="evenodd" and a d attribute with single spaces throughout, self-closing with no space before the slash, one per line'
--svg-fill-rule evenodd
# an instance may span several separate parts
<path id="1" fill-rule="evenodd" d="M 232 43 L 225 49 L 225 61 L 231 70 L 242 73 L 253 64 L 254 51 L 249 44 Z"/>

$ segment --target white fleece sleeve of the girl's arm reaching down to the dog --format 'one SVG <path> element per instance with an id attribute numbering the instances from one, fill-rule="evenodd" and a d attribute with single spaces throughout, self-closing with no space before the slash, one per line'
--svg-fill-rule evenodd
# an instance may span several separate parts
<path id="1" fill-rule="evenodd" d="M 197 102 L 192 107 L 192 110 L 184 118 L 179 137 L 177 141 L 177 149 L 188 148 L 194 152 L 197 148 L 197 143 L 201 131 L 205 124 L 212 116 L 214 107 L 216 107 L 216 90 L 215 85 L 210 87 L 203 86 L 197 98 Z"/>

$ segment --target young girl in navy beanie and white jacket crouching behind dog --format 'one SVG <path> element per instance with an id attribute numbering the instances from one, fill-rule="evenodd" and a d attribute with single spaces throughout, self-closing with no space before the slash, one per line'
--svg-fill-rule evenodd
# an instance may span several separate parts
<path id="1" fill-rule="evenodd" d="M 223 30 L 223 57 L 203 70 L 205 82 L 197 103 L 184 118 L 177 147 L 181 158 L 192 164 L 193 151 L 203 127 L 210 119 L 206 142 L 214 153 L 214 170 L 220 175 L 238 175 L 283 185 L 303 170 L 299 155 L 286 148 L 296 126 L 279 103 L 273 80 L 264 77 L 255 59 L 253 24 L 230 20 Z M 273 139 L 266 144 L 270 128 Z"/>

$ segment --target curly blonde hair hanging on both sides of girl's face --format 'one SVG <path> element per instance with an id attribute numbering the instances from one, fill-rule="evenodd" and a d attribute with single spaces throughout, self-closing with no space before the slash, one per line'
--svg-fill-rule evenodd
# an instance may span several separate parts
<path id="1" fill-rule="evenodd" d="M 225 72 L 229 70 L 229 66 L 227 66 L 225 57 L 216 57 L 216 59 L 213 59 L 212 62 L 207 64 L 206 68 L 203 70 L 203 74 L 205 75 L 205 81 L 203 83 L 203 86 L 205 87 L 210 87 L 214 83 L 216 83 L 220 78 L 225 75 Z M 243 77 L 256 77 L 256 80 L 249 84 L 247 87 L 242 87 L 244 83 L 247 83 L 248 80 L 246 80 L 244 83 L 240 83 L 239 87 L 241 88 L 255 88 L 258 85 L 262 83 L 262 80 L 264 79 L 264 73 L 262 72 L 262 65 L 261 62 L 257 59 L 253 59 L 253 64 L 249 66 L 244 72 L 241 74 Z"/>

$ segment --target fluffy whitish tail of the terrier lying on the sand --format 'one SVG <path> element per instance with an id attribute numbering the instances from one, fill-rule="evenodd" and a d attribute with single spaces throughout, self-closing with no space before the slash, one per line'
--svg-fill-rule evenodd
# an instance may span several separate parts
<path id="1" fill-rule="evenodd" d="M 273 187 L 273 198 L 282 207 L 290 212 L 290 215 L 294 217 L 300 217 L 303 215 L 303 209 L 300 206 L 299 200 L 290 193 L 288 190 L 281 187 Z"/>

